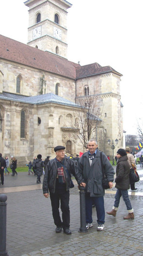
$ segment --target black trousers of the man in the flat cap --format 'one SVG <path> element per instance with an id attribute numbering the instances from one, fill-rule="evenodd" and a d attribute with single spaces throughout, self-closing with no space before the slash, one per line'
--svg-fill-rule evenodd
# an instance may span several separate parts
<path id="1" fill-rule="evenodd" d="M 65 184 L 63 184 L 65 185 Z M 52 206 L 52 214 L 54 223 L 57 227 L 69 228 L 70 226 L 70 211 L 69 211 L 69 191 L 66 191 L 66 185 L 63 189 L 56 189 L 55 193 L 50 193 Z M 60 217 L 59 207 L 61 203 L 62 219 Z"/>

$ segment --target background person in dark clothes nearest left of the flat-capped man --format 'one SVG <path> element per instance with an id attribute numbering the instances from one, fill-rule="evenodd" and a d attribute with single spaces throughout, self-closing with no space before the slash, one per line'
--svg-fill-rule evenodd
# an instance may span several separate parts
<path id="1" fill-rule="evenodd" d="M 43 168 L 45 164 L 42 160 L 42 155 L 38 155 L 37 159 L 33 162 L 33 167 L 35 169 L 36 175 L 37 175 L 37 180 L 36 183 L 41 183 L 41 176 L 43 174 Z"/>

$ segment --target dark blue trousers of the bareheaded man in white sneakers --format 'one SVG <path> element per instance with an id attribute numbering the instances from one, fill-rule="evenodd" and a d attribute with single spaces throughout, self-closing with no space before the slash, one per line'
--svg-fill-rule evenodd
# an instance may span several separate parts
<path id="1" fill-rule="evenodd" d="M 90 197 L 90 193 L 85 193 L 85 210 L 86 210 L 86 223 L 92 223 L 92 205 L 95 204 L 97 223 L 105 223 L 105 209 L 104 197 Z"/>

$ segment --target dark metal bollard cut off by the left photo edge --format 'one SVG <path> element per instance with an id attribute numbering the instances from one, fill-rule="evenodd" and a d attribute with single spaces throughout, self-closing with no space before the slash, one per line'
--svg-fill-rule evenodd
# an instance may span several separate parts
<path id="1" fill-rule="evenodd" d="M 6 200 L 5 194 L 0 194 L 0 256 L 8 256 L 6 251 Z"/>

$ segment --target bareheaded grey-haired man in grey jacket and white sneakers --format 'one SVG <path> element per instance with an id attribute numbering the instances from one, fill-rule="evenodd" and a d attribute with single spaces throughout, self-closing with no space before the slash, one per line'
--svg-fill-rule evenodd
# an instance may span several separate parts
<path id="1" fill-rule="evenodd" d="M 78 162 L 79 172 L 82 174 L 86 183 L 85 208 L 86 208 L 86 228 L 93 227 L 92 205 L 95 204 L 97 213 L 97 231 L 104 229 L 105 209 L 104 195 L 105 191 L 102 187 L 102 167 L 100 159 L 100 151 L 94 139 L 88 141 L 89 151 L 85 152 Z M 114 180 L 114 170 L 106 155 L 102 152 L 102 162 L 105 176 L 112 188 Z"/>

